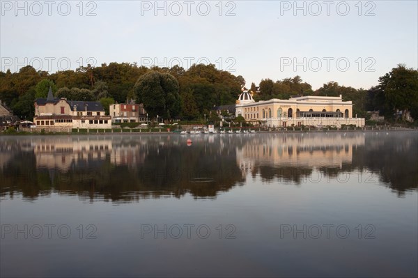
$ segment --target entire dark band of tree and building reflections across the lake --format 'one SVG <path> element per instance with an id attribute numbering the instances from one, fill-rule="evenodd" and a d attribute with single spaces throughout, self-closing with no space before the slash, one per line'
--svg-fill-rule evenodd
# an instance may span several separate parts
<path id="1" fill-rule="evenodd" d="M 191 147 L 186 139 L 1 139 L 0 194 L 127 202 L 185 194 L 214 198 L 242 185 L 247 175 L 297 185 L 317 180 L 317 173 L 334 179 L 358 172 L 375 173 L 399 195 L 418 187 L 416 132 L 201 135 Z"/>

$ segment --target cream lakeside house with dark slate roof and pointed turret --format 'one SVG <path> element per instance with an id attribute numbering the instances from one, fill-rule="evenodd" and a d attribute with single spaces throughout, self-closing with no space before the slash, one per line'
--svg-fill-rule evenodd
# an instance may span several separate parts
<path id="1" fill-rule="evenodd" d="M 106 116 L 100 102 L 56 99 L 49 88 L 48 97 L 35 100 L 36 127 L 59 128 L 111 128 L 111 117 Z"/>

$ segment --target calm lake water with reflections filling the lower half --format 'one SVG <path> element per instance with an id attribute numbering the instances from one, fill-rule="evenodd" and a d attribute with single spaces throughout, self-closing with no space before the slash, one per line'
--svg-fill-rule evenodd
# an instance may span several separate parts
<path id="1" fill-rule="evenodd" d="M 1 136 L 0 200 L 1 277 L 418 276 L 417 132 Z"/>

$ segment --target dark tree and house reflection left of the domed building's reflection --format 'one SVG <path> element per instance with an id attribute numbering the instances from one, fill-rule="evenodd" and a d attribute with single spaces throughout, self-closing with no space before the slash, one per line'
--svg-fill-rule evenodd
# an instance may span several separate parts
<path id="1" fill-rule="evenodd" d="M 196 138 L 192 147 L 179 136 L 0 141 L 13 146 L 13 157 L 1 165 L 0 192 L 27 199 L 54 192 L 111 201 L 187 193 L 213 198 L 245 180 L 235 148 L 219 140 Z M 23 142 L 30 147 L 22 148 Z"/>

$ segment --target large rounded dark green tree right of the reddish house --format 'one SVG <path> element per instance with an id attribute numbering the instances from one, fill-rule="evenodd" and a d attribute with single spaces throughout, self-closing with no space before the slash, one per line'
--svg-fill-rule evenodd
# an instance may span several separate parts
<path id="1" fill-rule="evenodd" d="M 178 81 L 169 73 L 147 72 L 139 77 L 134 91 L 151 118 L 157 115 L 169 118 L 176 116 L 180 110 Z"/>

